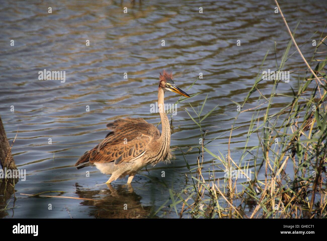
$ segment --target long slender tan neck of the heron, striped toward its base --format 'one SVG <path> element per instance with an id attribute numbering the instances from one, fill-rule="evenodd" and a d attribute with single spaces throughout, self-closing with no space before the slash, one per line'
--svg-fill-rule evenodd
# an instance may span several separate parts
<path id="1" fill-rule="evenodd" d="M 159 114 L 161 118 L 161 125 L 162 125 L 162 132 L 159 140 L 161 140 L 160 143 L 165 144 L 164 148 L 169 149 L 170 146 L 170 125 L 168 117 L 164 111 L 164 103 L 163 103 L 163 96 L 164 92 L 162 88 L 159 88 L 158 90 L 158 108 L 159 108 Z"/>

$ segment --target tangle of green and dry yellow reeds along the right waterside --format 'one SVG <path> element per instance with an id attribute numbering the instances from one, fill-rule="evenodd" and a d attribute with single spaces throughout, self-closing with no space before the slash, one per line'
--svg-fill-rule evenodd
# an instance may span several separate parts
<path id="1" fill-rule="evenodd" d="M 293 33 L 294 36 L 294 33 Z M 320 46 L 327 46 L 320 36 L 310 64 L 318 61 L 315 69 L 307 70 L 302 79 L 298 79 L 297 89 L 292 88 L 293 95 L 278 94 L 277 88 L 281 80 L 272 80 L 271 93 L 265 96 L 259 89 L 259 83 L 263 81 L 262 67 L 253 87 L 248 92 L 242 104 L 236 103 L 243 108 L 251 94 L 260 94 L 258 106 L 237 113 L 234 124 L 229 131 L 228 154 L 224 156 L 219 150 L 209 148 L 206 142 L 206 131 L 202 130 L 201 123 L 217 108 L 206 114 L 202 110 L 207 101 L 205 98 L 198 111 L 190 105 L 195 113 L 185 109 L 198 126 L 201 140 L 198 148 L 197 166 L 191 168 L 187 161 L 187 153 L 181 148 L 180 151 L 189 170 L 187 180 L 190 185 L 176 192 L 169 189 L 170 198 L 155 212 L 158 213 L 167 203 L 171 211 L 182 218 L 326 218 L 327 217 L 327 189 L 326 189 L 326 165 L 327 165 L 327 113 L 326 113 L 326 58 L 316 59 Z M 276 71 L 284 69 L 285 62 L 289 59 L 289 50 L 292 40 L 289 41 L 281 62 L 277 64 Z M 294 53 L 293 53 L 294 54 Z M 292 54 L 292 55 L 293 55 Z M 311 75 L 308 75 L 310 74 Z M 317 81 L 317 78 L 319 81 Z M 266 81 L 266 80 L 265 80 Z M 287 96 L 292 102 L 279 111 L 273 107 L 275 96 Z M 233 160 L 230 151 L 232 131 L 240 128 L 236 121 L 238 116 L 245 111 L 252 111 L 249 130 L 246 137 L 245 147 L 238 163 Z M 264 113 L 263 117 L 259 113 Z M 235 127 L 234 127 L 235 126 Z M 250 138 L 257 138 L 258 145 L 248 147 Z M 215 154 L 219 152 L 219 154 Z M 214 160 L 208 168 L 204 167 L 204 156 L 211 155 Z M 250 161 L 254 163 L 253 172 L 249 173 Z M 291 165 L 293 173 L 287 173 L 286 167 Z M 228 173 L 228 170 L 237 171 L 238 174 L 225 175 L 224 178 L 215 178 L 217 167 Z M 210 170 L 212 168 L 212 170 Z M 288 169 L 289 170 L 289 169 Z M 209 178 L 205 179 L 203 171 Z M 209 174 L 208 174 L 209 172 Z M 244 175 L 244 182 L 238 182 L 239 174 Z M 250 178 L 249 175 L 254 175 Z M 261 180 L 259 178 L 261 177 Z M 223 180 L 222 180 L 223 179 Z M 221 182 L 220 182 L 221 181 Z M 223 187 L 220 184 L 224 183 Z M 237 187 L 242 187 L 237 189 Z M 170 201 L 170 202 L 168 202 Z M 179 211 L 178 211 L 179 210 Z"/>

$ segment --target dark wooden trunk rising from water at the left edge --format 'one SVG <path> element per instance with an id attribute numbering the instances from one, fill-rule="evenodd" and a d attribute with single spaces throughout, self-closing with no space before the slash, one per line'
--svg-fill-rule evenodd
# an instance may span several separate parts
<path id="1" fill-rule="evenodd" d="M 11 170 L 17 169 L 14 158 L 11 155 L 10 145 L 0 116 L 0 164 L 2 169 L 5 167 Z"/>

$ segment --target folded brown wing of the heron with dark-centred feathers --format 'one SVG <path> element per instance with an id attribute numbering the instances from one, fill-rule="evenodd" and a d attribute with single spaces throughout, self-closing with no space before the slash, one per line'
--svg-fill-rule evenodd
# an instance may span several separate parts
<path id="1" fill-rule="evenodd" d="M 159 130 L 142 118 L 118 119 L 107 127 L 111 132 L 89 151 L 91 163 L 133 161 L 144 155 L 149 142 L 160 137 Z"/>

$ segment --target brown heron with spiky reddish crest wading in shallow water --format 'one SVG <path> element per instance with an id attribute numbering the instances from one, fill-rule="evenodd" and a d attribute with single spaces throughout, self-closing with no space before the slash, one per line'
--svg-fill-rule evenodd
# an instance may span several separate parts
<path id="1" fill-rule="evenodd" d="M 170 124 L 164 110 L 166 90 L 190 98 L 190 95 L 177 87 L 173 74 L 163 70 L 159 73 L 158 112 L 162 131 L 143 118 L 119 118 L 107 124 L 110 132 L 100 144 L 86 151 L 76 162 L 77 169 L 90 164 L 103 174 L 111 175 L 106 184 L 129 175 L 131 185 L 135 174 L 143 167 L 156 165 L 173 158 L 170 150 Z"/>

